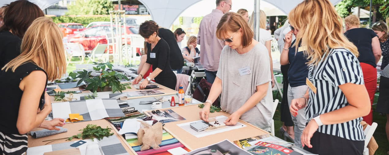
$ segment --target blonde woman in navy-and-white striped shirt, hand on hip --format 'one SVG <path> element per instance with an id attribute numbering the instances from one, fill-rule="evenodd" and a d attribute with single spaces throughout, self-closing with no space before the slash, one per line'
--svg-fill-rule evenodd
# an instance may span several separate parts
<path id="1" fill-rule="evenodd" d="M 305 109 L 304 149 L 323 155 L 361 155 L 362 116 L 370 99 L 357 59 L 357 47 L 343 34 L 342 18 L 329 0 L 305 0 L 289 13 L 308 60 L 307 93 L 292 100 L 291 114 Z M 312 39 L 314 38 L 314 39 Z M 292 47 L 296 48 L 296 47 Z"/>

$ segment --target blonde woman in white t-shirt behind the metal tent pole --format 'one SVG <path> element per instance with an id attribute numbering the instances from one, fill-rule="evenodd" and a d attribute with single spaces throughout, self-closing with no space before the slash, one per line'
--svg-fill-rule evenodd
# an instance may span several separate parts
<path id="1" fill-rule="evenodd" d="M 251 28 L 251 31 L 254 31 L 254 12 L 252 12 L 250 20 L 249 20 L 249 26 Z M 266 29 L 266 14 L 265 11 L 259 10 L 259 42 L 265 45 L 265 47 L 268 49 L 269 57 L 270 57 L 270 72 L 272 74 L 272 88 L 274 87 L 275 81 L 273 76 L 273 59 L 272 59 L 272 34 L 267 31 Z"/>

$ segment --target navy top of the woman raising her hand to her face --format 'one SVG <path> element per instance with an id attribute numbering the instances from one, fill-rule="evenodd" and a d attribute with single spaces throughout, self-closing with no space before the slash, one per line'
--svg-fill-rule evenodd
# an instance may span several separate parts
<path id="1" fill-rule="evenodd" d="M 304 52 L 297 52 L 296 48 L 293 47 L 296 40 L 291 44 L 289 48 L 288 59 L 289 59 L 289 70 L 288 70 L 288 81 L 291 87 L 303 86 L 305 85 L 306 79 L 308 77 L 308 66 L 307 66 L 307 57 L 304 56 Z M 300 47 L 301 42 L 298 44 Z"/>

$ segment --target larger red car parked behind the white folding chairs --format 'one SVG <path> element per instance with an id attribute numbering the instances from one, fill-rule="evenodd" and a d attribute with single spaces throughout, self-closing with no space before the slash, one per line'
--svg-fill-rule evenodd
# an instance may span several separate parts
<path id="1" fill-rule="evenodd" d="M 124 28 L 124 26 L 121 26 L 122 28 Z M 116 33 L 116 26 L 113 27 L 114 28 L 114 33 Z M 126 29 L 125 29 L 126 33 L 127 34 L 138 34 L 138 30 L 135 29 L 134 26 L 126 26 Z M 126 41 L 124 39 L 124 29 L 122 29 L 122 37 L 123 37 L 123 40 L 122 40 L 122 49 L 123 49 L 123 53 L 125 53 L 127 51 L 127 53 L 130 52 L 130 44 L 131 44 L 131 41 L 130 41 L 130 37 L 128 37 L 127 39 L 127 47 L 125 45 L 125 42 Z M 107 36 L 106 34 L 107 33 L 111 33 L 111 26 L 110 25 L 97 25 L 97 26 L 92 26 L 88 29 L 85 29 L 84 31 L 81 31 L 79 34 L 72 34 L 72 35 L 69 35 L 67 36 L 65 39 L 67 39 L 68 42 L 72 42 L 72 43 L 80 43 L 83 47 L 84 47 L 84 50 L 88 51 L 88 50 L 93 50 L 93 48 L 96 47 L 97 43 L 100 43 L 100 44 L 107 44 Z M 112 53 L 112 46 L 110 46 L 109 48 L 109 53 Z M 137 53 L 140 55 L 140 49 L 137 48 Z"/>

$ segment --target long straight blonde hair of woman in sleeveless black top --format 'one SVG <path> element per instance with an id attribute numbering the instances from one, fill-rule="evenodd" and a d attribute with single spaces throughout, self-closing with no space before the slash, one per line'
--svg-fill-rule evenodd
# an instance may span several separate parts
<path id="1" fill-rule="evenodd" d="M 5 64 L 2 70 L 12 69 L 15 72 L 20 65 L 37 59 L 39 61 L 36 65 L 46 71 L 49 81 L 61 78 L 66 73 L 62 38 L 62 32 L 51 18 L 35 19 L 23 37 L 21 54 Z"/>

